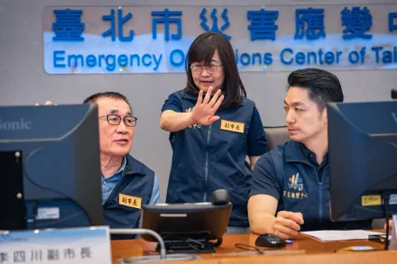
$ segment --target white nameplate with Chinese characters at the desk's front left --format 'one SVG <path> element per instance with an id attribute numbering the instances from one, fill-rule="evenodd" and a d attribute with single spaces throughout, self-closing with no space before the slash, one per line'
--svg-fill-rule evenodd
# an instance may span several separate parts
<path id="1" fill-rule="evenodd" d="M 107 226 L 0 231 L 0 263 L 110 264 Z"/>

